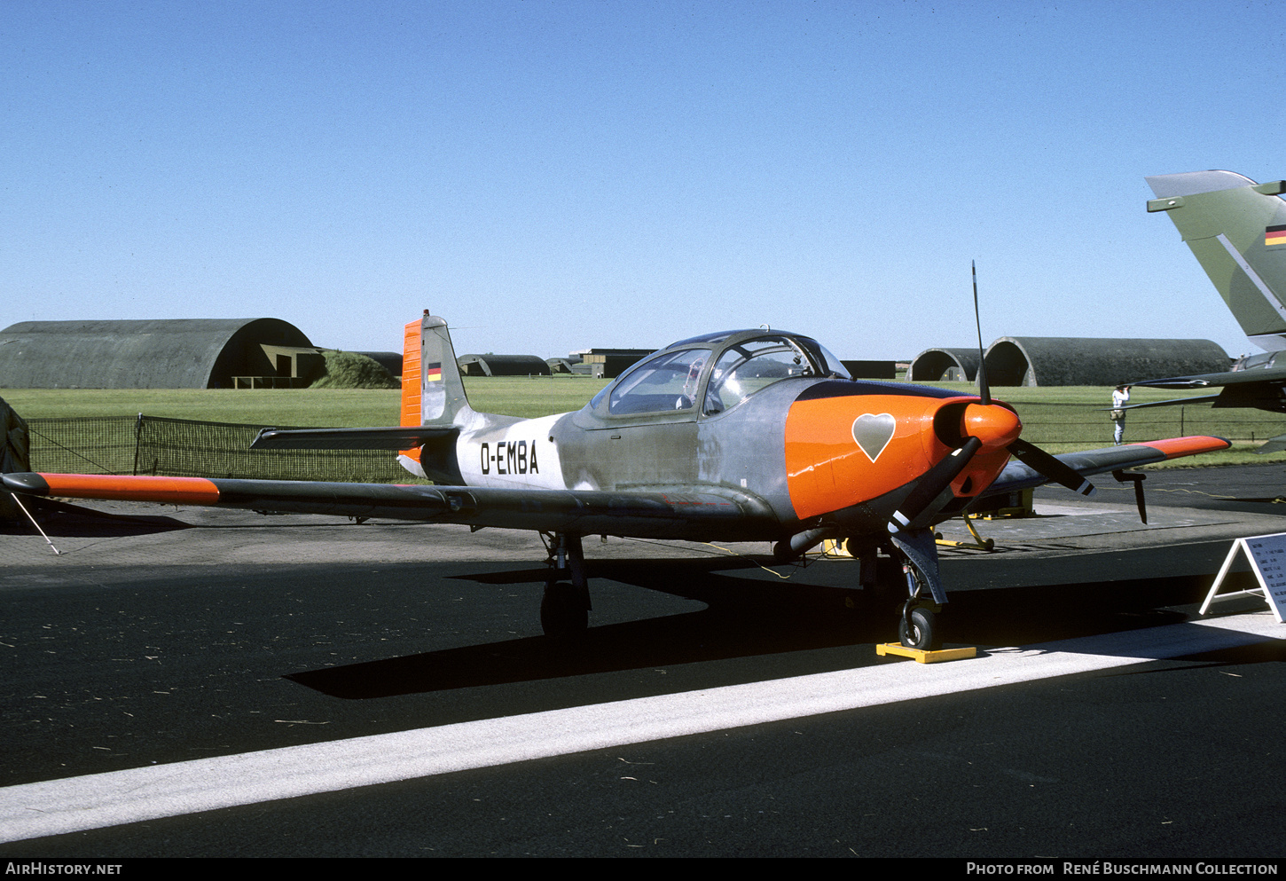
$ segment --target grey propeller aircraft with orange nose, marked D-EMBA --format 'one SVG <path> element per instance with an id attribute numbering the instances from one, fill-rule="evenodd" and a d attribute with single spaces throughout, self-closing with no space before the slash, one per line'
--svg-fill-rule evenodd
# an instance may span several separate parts
<path id="1" fill-rule="evenodd" d="M 975 311 L 976 311 L 975 282 Z M 784 331 L 729 331 L 671 343 L 575 413 L 520 419 L 475 412 L 446 322 L 405 328 L 401 426 L 264 430 L 261 449 L 388 449 L 437 485 L 94 475 L 4 475 L 35 495 L 134 499 L 472 527 L 536 530 L 549 547 L 540 619 L 547 634 L 583 630 L 590 608 L 581 539 L 617 535 L 775 543 L 788 561 L 846 540 L 863 586 L 882 552 L 901 563 L 899 637 L 936 642 L 946 602 L 932 526 L 986 494 L 1228 446 L 1178 437 L 1053 457 L 979 395 L 858 382 L 817 341 Z M 1010 462 L 1013 455 L 1017 462 Z M 887 568 L 887 567 L 886 567 Z"/>

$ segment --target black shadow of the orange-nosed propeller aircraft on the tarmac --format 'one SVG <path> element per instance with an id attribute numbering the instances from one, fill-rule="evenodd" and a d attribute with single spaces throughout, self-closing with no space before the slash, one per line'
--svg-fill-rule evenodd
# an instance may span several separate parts
<path id="1" fill-rule="evenodd" d="M 896 598 L 788 581 L 773 584 L 727 571 L 748 567 L 757 568 L 754 562 L 729 561 L 597 561 L 590 563 L 592 577 L 700 601 L 706 608 L 590 626 L 583 637 L 566 643 L 529 637 L 285 678 L 332 697 L 365 700 L 853 647 L 853 653 L 829 652 L 779 665 L 804 665 L 797 671 L 777 673 L 795 675 L 876 662 L 872 646 L 895 638 Z M 471 580 L 520 584 L 543 580 L 544 574 L 487 572 Z M 975 590 L 957 594 L 941 615 L 941 626 L 948 644 L 981 647 L 1159 626 L 1186 619 L 1163 607 L 1200 602 L 1209 584 L 1209 575 L 1195 575 Z M 732 670 L 712 675 L 728 677 L 718 684 L 761 678 Z"/>

